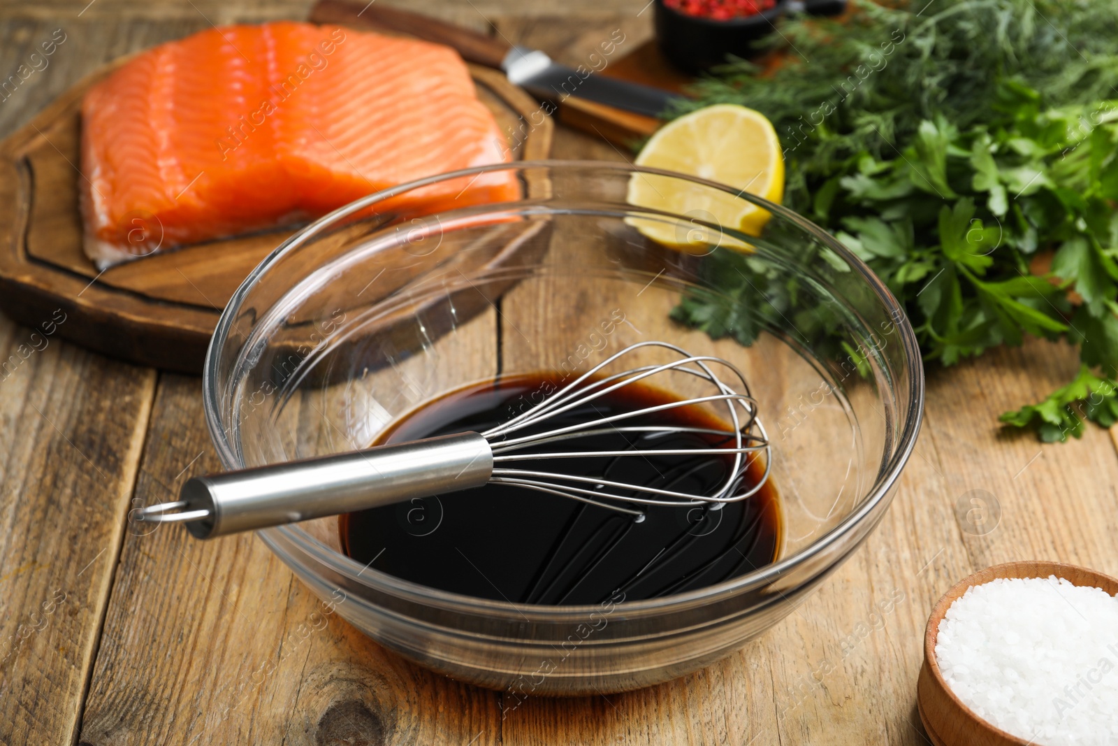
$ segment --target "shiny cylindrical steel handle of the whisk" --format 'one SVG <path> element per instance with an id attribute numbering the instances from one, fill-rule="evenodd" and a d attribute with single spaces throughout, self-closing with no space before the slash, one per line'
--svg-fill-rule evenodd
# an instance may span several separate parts
<path id="1" fill-rule="evenodd" d="M 199 539 L 337 516 L 485 484 L 493 452 L 477 433 L 443 435 L 235 472 L 182 485 L 186 523 Z"/>

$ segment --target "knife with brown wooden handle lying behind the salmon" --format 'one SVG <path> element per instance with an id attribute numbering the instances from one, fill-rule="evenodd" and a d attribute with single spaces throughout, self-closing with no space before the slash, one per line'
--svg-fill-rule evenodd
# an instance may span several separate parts
<path id="1" fill-rule="evenodd" d="M 311 10 L 310 20 L 315 23 L 368 25 L 445 44 L 467 62 L 504 72 L 510 83 L 540 98 L 562 101 L 574 96 L 645 116 L 659 116 L 681 98 L 662 88 L 593 72 L 584 77 L 574 67 L 556 63 L 546 53 L 513 46 L 453 23 L 376 2 L 362 7 L 347 0 L 320 0 Z"/>

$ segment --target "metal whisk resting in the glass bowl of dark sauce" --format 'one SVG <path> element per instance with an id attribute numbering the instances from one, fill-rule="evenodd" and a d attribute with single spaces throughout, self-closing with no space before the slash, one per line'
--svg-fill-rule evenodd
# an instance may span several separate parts
<path id="1" fill-rule="evenodd" d="M 663 348 L 678 359 L 645 365 L 618 374 L 599 374 L 626 355 L 642 348 Z M 724 369 L 738 389 L 714 374 Z M 546 428 L 555 417 L 590 405 L 595 399 L 671 371 L 694 376 L 710 385 L 711 393 L 679 402 L 623 412 L 562 427 Z M 740 390 L 739 390 L 740 389 Z M 669 409 L 709 403 L 724 407 L 724 429 L 656 424 L 656 415 Z M 627 424 L 638 419 L 641 424 Z M 544 429 L 537 431 L 544 426 Z M 538 452 L 534 447 L 619 433 L 644 443 L 655 443 L 679 433 L 722 436 L 724 446 L 618 451 Z M 765 452 L 761 478 L 741 490 L 750 459 Z M 645 484 L 628 484 L 604 478 L 565 474 L 561 471 L 517 469 L 522 461 L 585 457 L 655 457 L 670 455 L 732 456 L 729 474 L 707 494 L 676 492 Z M 768 479 L 769 443 L 757 416 L 757 402 L 745 376 L 730 362 L 716 357 L 691 356 L 666 342 L 638 342 L 610 356 L 540 404 L 484 433 L 461 433 L 382 445 L 362 451 L 292 461 L 235 472 L 196 476 L 182 485 L 180 499 L 139 511 L 138 520 L 184 522 L 200 539 L 323 516 L 364 510 L 414 498 L 445 494 L 485 484 L 511 484 L 558 494 L 610 510 L 629 513 L 636 521 L 644 513 L 635 506 L 700 506 L 745 500 Z M 740 491 L 739 491 L 740 490 Z M 618 504 L 623 503 L 623 504 Z"/>

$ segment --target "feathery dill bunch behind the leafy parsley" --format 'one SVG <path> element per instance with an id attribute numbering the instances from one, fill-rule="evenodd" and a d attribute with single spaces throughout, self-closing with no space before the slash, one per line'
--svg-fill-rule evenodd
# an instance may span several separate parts
<path id="1" fill-rule="evenodd" d="M 963 130 L 989 121 L 1002 79 L 1021 78 L 1052 106 L 1118 98 L 1118 2 L 850 2 L 846 19 L 794 18 L 769 37 L 787 55 L 773 74 L 732 62 L 674 112 L 733 103 L 765 114 L 787 151 L 793 209 L 809 204 L 813 174 L 861 152 L 896 158 L 937 114 Z"/>

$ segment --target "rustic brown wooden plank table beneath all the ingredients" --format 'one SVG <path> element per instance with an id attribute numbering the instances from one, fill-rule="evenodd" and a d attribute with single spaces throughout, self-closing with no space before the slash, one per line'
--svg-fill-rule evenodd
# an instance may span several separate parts
<path id="1" fill-rule="evenodd" d="M 383 0 L 378 0 L 383 1 Z M 577 63 L 645 0 L 424 0 L 409 7 Z M 0 9 L 0 75 L 61 28 L 49 66 L 0 102 L 0 134 L 120 55 L 210 22 L 301 18 L 303 0 L 40 0 Z M 623 159 L 559 128 L 557 158 Z M 9 232 L 11 226 L 0 226 Z M 0 318 L 0 359 L 31 330 Z M 878 531 L 796 613 L 724 661 L 609 697 L 529 699 L 458 684 L 380 649 L 316 604 L 252 536 L 138 536 L 129 509 L 218 468 L 198 378 L 50 340 L 0 381 L 0 743 L 925 744 L 921 632 L 958 578 L 1013 559 L 1118 574 L 1118 455 L 1105 431 L 1040 445 L 999 412 L 1068 380 L 1071 350 L 1030 342 L 929 371 L 927 418 Z M 973 490 L 996 529 L 965 530 Z M 973 495 L 972 495 L 973 497 Z M 967 504 L 967 503 L 965 503 Z M 882 611 L 888 610 L 888 611 Z"/>

